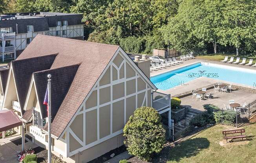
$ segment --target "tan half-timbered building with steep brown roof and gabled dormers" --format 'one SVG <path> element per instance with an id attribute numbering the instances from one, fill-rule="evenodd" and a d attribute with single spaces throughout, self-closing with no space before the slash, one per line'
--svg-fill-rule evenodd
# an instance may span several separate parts
<path id="1" fill-rule="evenodd" d="M 170 94 L 156 91 L 149 69 L 149 59 L 133 61 L 117 45 L 38 34 L 0 70 L 2 110 L 23 121 L 22 138 L 48 148 L 43 101 L 51 74 L 51 151 L 67 163 L 86 163 L 123 145 L 124 125 L 138 107 L 167 113 L 170 125 Z"/>

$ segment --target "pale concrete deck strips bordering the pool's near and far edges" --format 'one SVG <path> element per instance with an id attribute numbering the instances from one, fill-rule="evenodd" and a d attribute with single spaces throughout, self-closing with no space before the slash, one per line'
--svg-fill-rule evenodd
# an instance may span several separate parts
<path id="1" fill-rule="evenodd" d="M 159 74 L 162 74 L 162 73 L 165 73 L 165 72 L 168 72 L 168 71 L 176 70 L 176 69 L 188 66 L 188 65 L 192 65 L 194 63 L 198 63 L 198 62 L 210 62 L 210 63 L 214 63 L 214 64 L 219 64 L 219 65 L 229 65 L 229 66 L 232 66 L 232 67 L 241 67 L 241 68 L 244 68 L 244 69 L 256 70 L 255 67 L 249 67 L 249 66 L 243 66 L 243 65 L 234 65 L 234 64 L 229 64 L 229 63 L 221 63 L 221 62 L 214 61 L 214 60 L 191 59 L 191 60 L 184 61 L 183 63 L 181 63 L 179 65 L 175 65 L 175 66 L 172 66 L 172 67 L 168 67 L 168 68 L 165 68 L 165 69 L 161 69 L 161 70 L 158 70 L 158 71 L 151 72 L 150 76 L 151 77 L 156 76 L 156 75 L 159 75 Z M 196 78 L 195 80 L 192 80 L 190 82 L 184 83 L 184 85 L 178 85 L 176 87 L 167 89 L 165 91 L 161 90 L 161 89 L 158 89 L 157 91 L 165 93 L 165 94 L 171 94 L 171 96 L 175 96 L 177 94 L 181 94 L 183 92 L 196 90 L 196 89 L 199 89 L 199 88 L 202 88 L 202 87 L 206 87 L 208 85 L 212 85 L 212 84 L 217 83 L 217 82 L 223 82 L 223 83 L 230 83 L 231 84 L 231 82 L 227 82 L 227 81 L 223 81 L 223 80 L 200 77 L 200 78 Z M 240 83 L 233 83 L 232 82 L 232 84 L 233 85 L 238 85 L 238 86 L 241 86 L 241 87 L 247 87 L 247 88 L 255 89 L 255 88 L 253 88 L 253 86 L 242 85 Z"/>

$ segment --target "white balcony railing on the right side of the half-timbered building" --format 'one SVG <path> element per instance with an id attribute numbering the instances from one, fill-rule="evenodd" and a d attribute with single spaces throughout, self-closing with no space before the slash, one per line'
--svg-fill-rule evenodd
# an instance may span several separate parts
<path id="1" fill-rule="evenodd" d="M 152 107 L 157 111 L 171 107 L 171 95 L 160 92 L 153 92 Z"/>

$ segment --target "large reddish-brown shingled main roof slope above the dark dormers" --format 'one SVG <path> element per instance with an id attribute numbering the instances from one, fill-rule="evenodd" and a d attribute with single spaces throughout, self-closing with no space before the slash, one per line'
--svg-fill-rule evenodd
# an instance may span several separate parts
<path id="1" fill-rule="evenodd" d="M 59 137 L 104 71 L 119 46 L 38 34 L 17 60 L 59 53 L 51 69 L 81 63 L 53 119 L 52 134 Z"/>

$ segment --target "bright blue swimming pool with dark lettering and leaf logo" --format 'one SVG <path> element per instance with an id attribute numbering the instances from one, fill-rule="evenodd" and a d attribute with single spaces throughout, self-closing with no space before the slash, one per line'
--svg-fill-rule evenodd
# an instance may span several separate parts
<path id="1" fill-rule="evenodd" d="M 256 82 L 256 70 L 200 62 L 153 76 L 150 80 L 158 89 L 167 90 L 201 76 L 250 86 Z"/>

